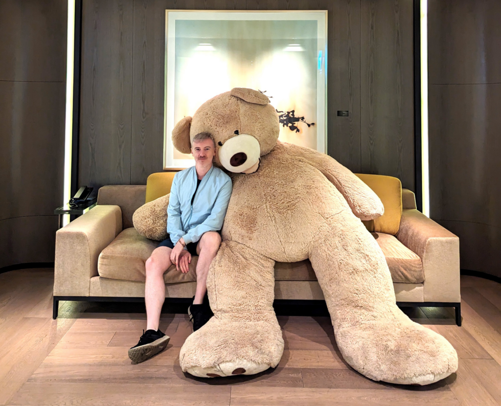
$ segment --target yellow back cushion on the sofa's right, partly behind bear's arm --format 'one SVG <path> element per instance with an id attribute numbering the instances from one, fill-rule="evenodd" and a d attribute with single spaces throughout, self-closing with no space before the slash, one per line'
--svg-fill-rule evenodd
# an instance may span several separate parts
<path id="1" fill-rule="evenodd" d="M 402 184 L 398 178 L 383 175 L 356 173 L 383 202 L 384 214 L 363 223 L 371 232 L 395 235 L 400 228 L 402 217 Z"/>

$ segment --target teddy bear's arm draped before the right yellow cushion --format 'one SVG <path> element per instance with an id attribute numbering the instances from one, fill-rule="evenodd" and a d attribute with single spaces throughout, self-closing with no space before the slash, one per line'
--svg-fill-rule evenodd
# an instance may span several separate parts
<path id="1" fill-rule="evenodd" d="M 304 159 L 322 172 L 336 186 L 358 218 L 372 220 L 384 214 L 383 203 L 372 189 L 334 158 L 310 148 L 289 143 L 281 144 L 290 155 Z"/>

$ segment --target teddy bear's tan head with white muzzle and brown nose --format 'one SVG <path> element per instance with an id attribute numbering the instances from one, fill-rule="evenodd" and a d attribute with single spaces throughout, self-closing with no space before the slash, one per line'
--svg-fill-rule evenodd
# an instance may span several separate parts
<path id="1" fill-rule="evenodd" d="M 184 117 L 172 131 L 174 147 L 191 151 L 193 137 L 208 132 L 215 141 L 214 164 L 229 172 L 253 173 L 260 157 L 277 144 L 279 116 L 263 93 L 252 89 L 233 88 L 200 106 L 193 117 Z"/>

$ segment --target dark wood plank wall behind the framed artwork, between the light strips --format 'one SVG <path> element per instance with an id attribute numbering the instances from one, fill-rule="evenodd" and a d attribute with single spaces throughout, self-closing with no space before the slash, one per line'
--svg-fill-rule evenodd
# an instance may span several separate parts
<path id="1" fill-rule="evenodd" d="M 328 153 L 414 190 L 409 0 L 84 0 L 80 185 L 162 171 L 166 9 L 327 10 Z"/>

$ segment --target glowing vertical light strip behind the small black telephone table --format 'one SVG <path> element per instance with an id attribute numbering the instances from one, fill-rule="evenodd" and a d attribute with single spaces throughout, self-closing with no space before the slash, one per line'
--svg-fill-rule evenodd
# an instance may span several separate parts
<path id="1" fill-rule="evenodd" d="M 64 143 L 64 192 L 63 204 L 71 198 L 71 150 L 73 132 L 73 64 L 75 54 L 75 0 L 68 0 L 68 36 L 66 48 L 66 118 Z M 70 222 L 70 215 L 63 216 L 63 227 Z"/>

